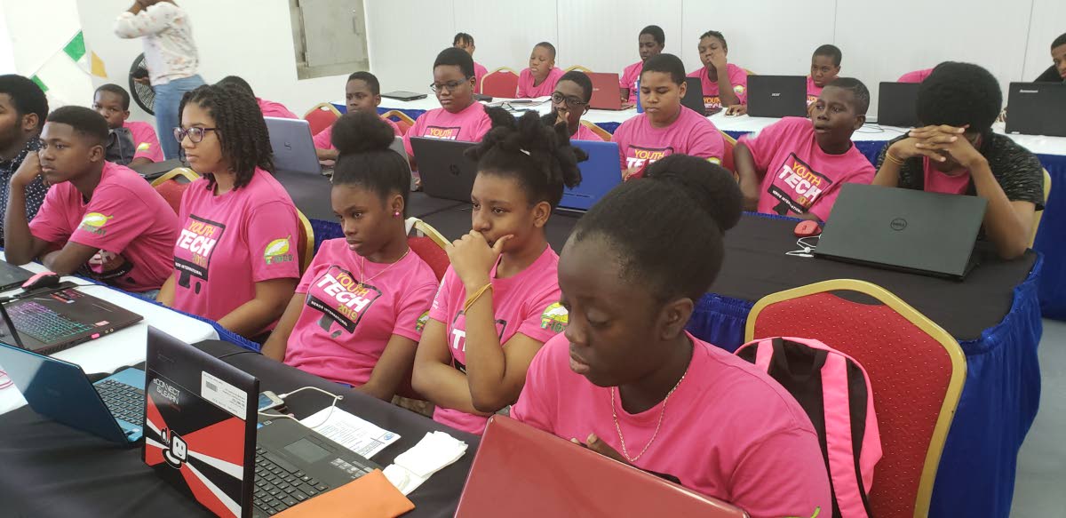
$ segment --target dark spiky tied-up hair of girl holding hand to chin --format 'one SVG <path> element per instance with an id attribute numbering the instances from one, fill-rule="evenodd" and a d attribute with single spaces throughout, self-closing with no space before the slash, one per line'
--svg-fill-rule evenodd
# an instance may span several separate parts
<path id="1" fill-rule="evenodd" d="M 492 129 L 466 156 L 478 162 L 478 174 L 516 178 L 530 206 L 547 201 L 554 209 L 563 198 L 563 185 L 581 183 L 578 162 L 585 151 L 570 145 L 566 124 L 546 127 L 535 112 L 515 118 L 502 108 L 486 108 Z"/>

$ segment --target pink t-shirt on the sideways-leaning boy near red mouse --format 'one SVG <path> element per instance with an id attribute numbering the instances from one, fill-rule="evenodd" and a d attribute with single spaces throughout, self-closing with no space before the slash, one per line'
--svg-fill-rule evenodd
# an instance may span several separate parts
<path id="1" fill-rule="evenodd" d="M 752 151 L 756 171 L 764 171 L 759 212 L 812 213 L 827 221 L 843 183 L 870 183 L 877 173 L 853 144 L 843 155 L 822 150 L 814 125 L 803 117 L 785 117 L 757 135 L 741 137 Z"/>

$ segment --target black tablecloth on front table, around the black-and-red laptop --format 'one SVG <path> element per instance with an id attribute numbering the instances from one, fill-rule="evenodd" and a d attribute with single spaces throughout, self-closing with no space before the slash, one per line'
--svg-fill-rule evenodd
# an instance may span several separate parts
<path id="1" fill-rule="evenodd" d="M 318 376 L 221 341 L 197 347 L 259 378 L 262 390 L 281 393 L 316 386 L 344 399 L 337 406 L 402 437 L 374 456 L 382 466 L 414 447 L 426 433 L 443 431 L 469 444 L 466 455 L 440 470 L 408 497 L 415 511 L 405 517 L 451 517 L 466 483 L 479 438 L 411 411 L 342 389 Z M 287 400 L 304 418 L 329 399 L 304 391 Z M 353 502 L 353 505 L 358 505 Z M 42 418 L 28 406 L 0 415 L 0 516 L 27 518 L 212 516 L 164 484 L 141 462 L 141 449 L 114 446 L 96 436 Z"/>

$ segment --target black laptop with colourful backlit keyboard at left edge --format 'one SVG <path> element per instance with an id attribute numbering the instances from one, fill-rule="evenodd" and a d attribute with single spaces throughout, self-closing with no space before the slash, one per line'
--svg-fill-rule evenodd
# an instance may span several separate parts
<path id="1" fill-rule="evenodd" d="M 38 354 L 58 353 L 144 320 L 74 286 L 63 282 L 3 304 L 22 346 Z M 12 342 L 9 338 L 6 326 L 0 326 L 0 341 Z"/>

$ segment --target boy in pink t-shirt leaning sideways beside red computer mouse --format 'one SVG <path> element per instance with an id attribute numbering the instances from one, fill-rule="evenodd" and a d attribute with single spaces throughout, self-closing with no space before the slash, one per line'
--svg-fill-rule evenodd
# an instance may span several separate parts
<path id="1" fill-rule="evenodd" d="M 744 208 L 828 221 L 844 183 L 870 183 L 876 173 L 852 143 L 866 123 L 870 92 L 839 78 L 818 98 L 811 118 L 785 117 L 733 147 Z"/>

